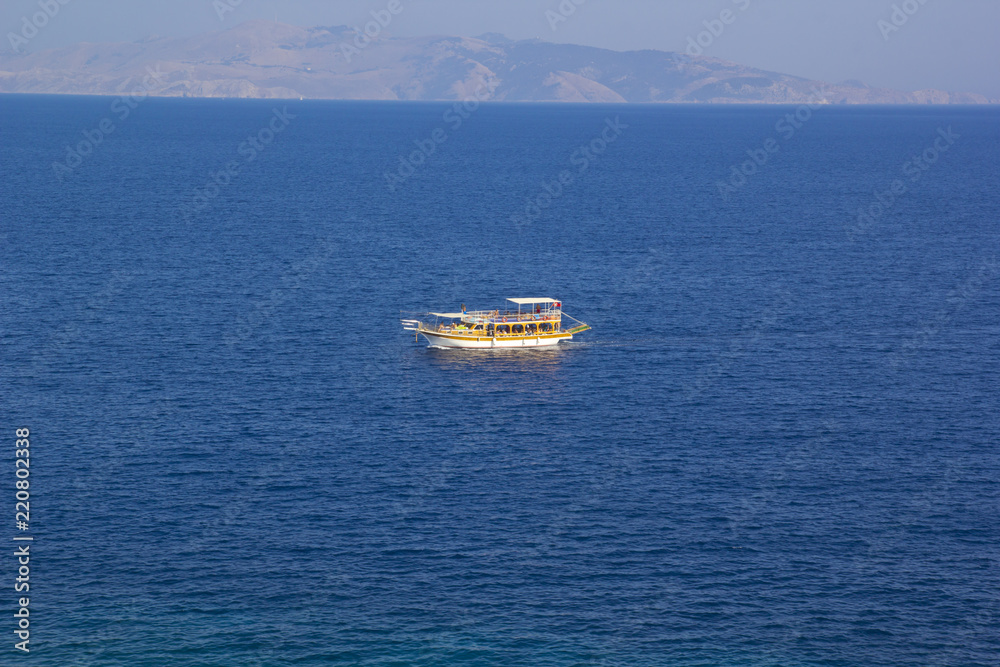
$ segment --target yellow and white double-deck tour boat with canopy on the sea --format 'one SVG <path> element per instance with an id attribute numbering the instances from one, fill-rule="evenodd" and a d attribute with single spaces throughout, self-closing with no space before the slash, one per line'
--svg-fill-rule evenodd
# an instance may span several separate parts
<path id="1" fill-rule="evenodd" d="M 403 329 L 412 331 L 432 347 L 485 350 L 494 348 L 551 347 L 590 327 L 567 315 L 558 299 L 507 299 L 517 306 L 503 311 L 468 311 L 465 304 L 455 313 L 422 313 L 400 319 Z M 563 328 L 563 318 L 576 324 Z"/>

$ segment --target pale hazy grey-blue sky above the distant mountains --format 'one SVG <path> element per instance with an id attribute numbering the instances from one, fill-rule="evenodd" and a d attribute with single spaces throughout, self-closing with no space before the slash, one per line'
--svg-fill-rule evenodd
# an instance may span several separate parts
<path id="1" fill-rule="evenodd" d="M 188 35 L 266 18 L 302 26 L 362 25 L 390 0 L 58 0 L 66 2 L 28 50 L 79 41 L 134 41 Z M 902 90 L 938 88 L 1000 98 L 1000 0 L 398 0 L 397 36 L 504 33 L 516 39 L 616 50 L 682 51 L 704 21 L 732 10 L 721 34 L 702 36 L 705 55 L 839 82 L 859 79 Z M 39 2 L 0 0 L 0 27 L 20 32 Z M 238 5 L 222 20 L 215 5 Z M 581 3 L 576 5 L 575 3 Z M 553 30 L 546 11 L 575 12 Z M 879 20 L 893 6 L 915 12 L 888 39 Z M 566 12 L 568 13 L 568 12 Z M 901 15 L 900 15 L 901 16 Z M 898 20 L 898 16 L 897 16 Z M 901 22 L 901 21 L 900 21 Z M 718 31 L 720 24 L 715 27 Z"/>

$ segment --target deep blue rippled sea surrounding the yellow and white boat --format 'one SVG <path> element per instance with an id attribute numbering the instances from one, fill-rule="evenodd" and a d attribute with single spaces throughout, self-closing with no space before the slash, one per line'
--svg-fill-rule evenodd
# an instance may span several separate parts
<path id="1" fill-rule="evenodd" d="M 997 109 L 3 96 L 0 139 L 0 663 L 1000 664 Z M 593 329 L 399 324 L 508 297 Z"/>

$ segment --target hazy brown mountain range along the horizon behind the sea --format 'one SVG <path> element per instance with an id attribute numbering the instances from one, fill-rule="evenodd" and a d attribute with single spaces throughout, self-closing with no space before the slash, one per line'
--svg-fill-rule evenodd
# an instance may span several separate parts
<path id="1" fill-rule="evenodd" d="M 995 104 L 972 93 L 828 84 L 709 57 L 539 40 L 393 38 L 248 21 L 197 37 L 0 53 L 0 93 L 507 102 Z"/>

